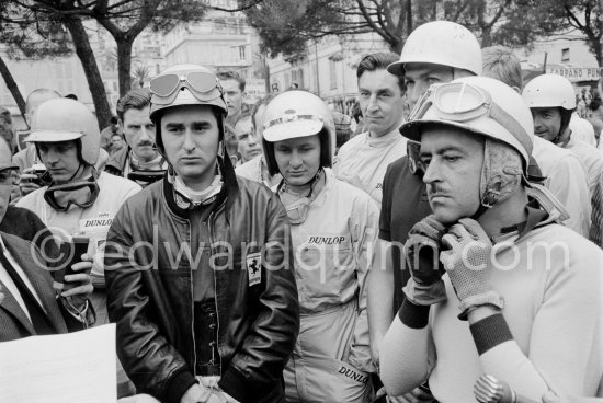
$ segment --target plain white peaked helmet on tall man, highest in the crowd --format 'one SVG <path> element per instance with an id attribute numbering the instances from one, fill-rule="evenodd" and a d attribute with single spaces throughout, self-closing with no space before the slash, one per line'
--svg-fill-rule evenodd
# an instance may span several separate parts
<path id="1" fill-rule="evenodd" d="M 406 64 L 432 64 L 468 70 L 481 74 L 481 48 L 475 35 L 450 21 L 428 22 L 408 36 L 400 60 L 387 67 L 387 71 L 403 76 Z"/>

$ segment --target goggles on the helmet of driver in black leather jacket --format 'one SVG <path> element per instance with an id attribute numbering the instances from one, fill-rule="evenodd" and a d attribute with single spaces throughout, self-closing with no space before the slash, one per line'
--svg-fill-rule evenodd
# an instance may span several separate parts
<path id="1" fill-rule="evenodd" d="M 178 91 L 186 88 L 200 101 L 211 101 L 223 95 L 216 76 L 205 71 L 191 71 L 184 76 L 170 73 L 156 77 L 150 82 L 153 104 L 169 105 L 178 96 Z"/>

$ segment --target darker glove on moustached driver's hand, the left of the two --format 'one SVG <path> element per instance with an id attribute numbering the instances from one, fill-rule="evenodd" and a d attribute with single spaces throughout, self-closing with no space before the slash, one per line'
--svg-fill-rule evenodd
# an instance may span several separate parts
<path id="1" fill-rule="evenodd" d="M 403 288 L 408 300 L 418 306 L 431 306 L 446 299 L 442 280 L 445 273 L 440 263 L 441 240 L 446 228 L 433 215 L 417 222 L 405 244 L 407 267 L 411 278 Z"/>

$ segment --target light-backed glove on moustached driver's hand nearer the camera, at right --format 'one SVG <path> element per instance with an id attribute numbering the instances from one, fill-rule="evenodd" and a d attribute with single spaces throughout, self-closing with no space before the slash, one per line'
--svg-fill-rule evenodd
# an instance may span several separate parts
<path id="1" fill-rule="evenodd" d="M 458 319 L 467 320 L 473 309 L 491 304 L 503 307 L 502 298 L 490 286 L 492 275 L 492 243 L 481 226 L 470 218 L 462 218 L 442 239 L 447 250 L 440 254 L 460 301 Z"/>

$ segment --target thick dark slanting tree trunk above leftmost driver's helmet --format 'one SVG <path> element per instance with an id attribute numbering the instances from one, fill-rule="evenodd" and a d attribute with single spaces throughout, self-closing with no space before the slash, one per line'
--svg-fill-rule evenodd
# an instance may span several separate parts
<path id="1" fill-rule="evenodd" d="M 94 58 L 90 41 L 88 39 L 88 33 L 79 19 L 66 20 L 64 24 L 71 34 L 76 54 L 81 61 L 88 81 L 88 88 L 92 94 L 92 101 L 94 102 L 94 111 L 96 112 L 99 127 L 101 129 L 105 128 L 111 122 L 112 113 L 106 99 L 101 72 L 99 71 L 96 59 Z"/>

